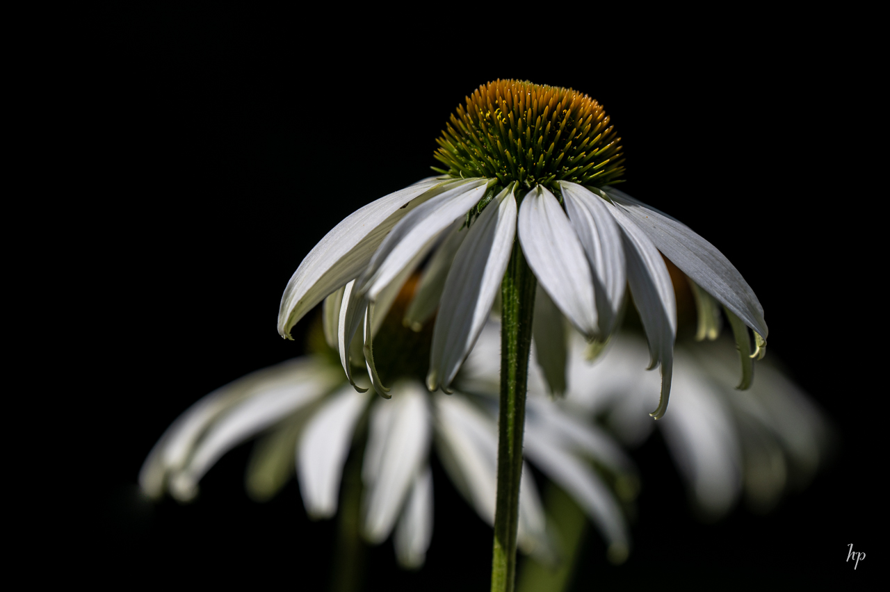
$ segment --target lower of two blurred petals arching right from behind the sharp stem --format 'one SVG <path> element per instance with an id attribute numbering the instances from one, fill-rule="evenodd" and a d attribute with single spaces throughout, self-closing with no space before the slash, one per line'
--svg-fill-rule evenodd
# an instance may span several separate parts
<path id="1" fill-rule="evenodd" d="M 627 552 L 629 537 L 621 509 L 609 488 L 585 462 L 552 444 L 531 426 L 525 430 L 525 452 L 594 521 L 610 544 L 610 554 L 619 553 L 622 548 Z"/>

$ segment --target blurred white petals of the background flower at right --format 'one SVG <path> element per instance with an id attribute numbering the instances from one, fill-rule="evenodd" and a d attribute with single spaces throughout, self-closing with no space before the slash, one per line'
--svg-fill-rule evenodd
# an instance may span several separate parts
<path id="1" fill-rule="evenodd" d="M 659 377 L 643 370 L 649 360 L 645 340 L 622 332 L 590 364 L 581 354 L 581 337 L 571 339 L 576 343 L 567 396 L 556 403 L 572 414 L 603 420 L 631 447 L 642 444 L 653 429 L 661 430 L 703 517 L 723 516 L 743 493 L 750 508 L 768 511 L 784 492 L 807 484 L 830 452 L 828 421 L 775 366 L 758 363 L 750 388 L 734 388 L 739 355 L 732 340 L 708 347 L 677 345 L 671 412 L 653 422 L 646 410 L 654 403 Z M 530 394 L 546 392 L 536 366 L 531 364 Z M 488 390 L 497 392 L 497 384 Z"/>

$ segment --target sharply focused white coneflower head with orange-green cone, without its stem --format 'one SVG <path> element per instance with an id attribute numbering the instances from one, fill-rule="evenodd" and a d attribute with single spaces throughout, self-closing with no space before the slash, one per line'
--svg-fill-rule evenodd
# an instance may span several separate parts
<path id="1" fill-rule="evenodd" d="M 629 285 L 660 364 L 660 418 L 667 408 L 676 303 L 662 255 L 692 279 L 703 319 L 723 305 L 745 375 L 762 356 L 763 308 L 724 255 L 692 229 L 614 188 L 623 172 L 619 138 L 603 107 L 571 89 L 514 80 L 484 84 L 457 108 L 435 158 L 447 168 L 384 196 L 321 239 L 279 308 L 279 332 L 326 300 L 328 333 L 353 387 L 352 360 L 364 358 L 376 392 L 387 396 L 373 340 L 405 280 L 429 258 L 404 323 L 419 329 L 438 308 L 426 386 L 449 392 L 496 300 L 514 241 L 537 278 L 534 340 L 551 392 L 564 390 L 564 316 L 591 344 L 619 324 Z M 362 327 L 362 335 L 355 336 Z M 756 349 L 751 354 L 750 327 Z M 331 341 L 334 339 L 332 337 Z M 562 340 L 564 341 L 564 340 Z M 749 380 L 748 380 L 749 381 Z M 743 386 L 746 386 L 743 380 Z"/>

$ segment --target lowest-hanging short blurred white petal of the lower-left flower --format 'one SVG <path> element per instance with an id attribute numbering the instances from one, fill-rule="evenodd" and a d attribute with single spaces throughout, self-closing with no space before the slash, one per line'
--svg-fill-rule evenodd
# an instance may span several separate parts
<path id="1" fill-rule="evenodd" d="M 424 564 L 433 539 L 433 471 L 424 468 L 414 479 L 408 501 L 396 524 L 392 544 L 399 564 L 417 569 Z"/>

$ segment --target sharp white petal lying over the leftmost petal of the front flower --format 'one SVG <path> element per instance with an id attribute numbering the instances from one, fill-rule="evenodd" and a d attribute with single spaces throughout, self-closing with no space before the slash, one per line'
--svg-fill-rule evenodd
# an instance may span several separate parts
<path id="1" fill-rule="evenodd" d="M 376 300 L 418 253 L 432 248 L 436 236 L 481 199 L 487 183 L 485 179 L 452 183 L 405 216 L 374 252 L 361 276 L 360 291 L 367 293 L 369 300 Z"/>

